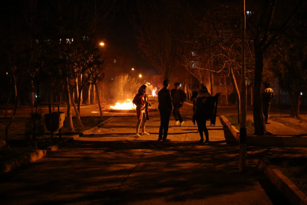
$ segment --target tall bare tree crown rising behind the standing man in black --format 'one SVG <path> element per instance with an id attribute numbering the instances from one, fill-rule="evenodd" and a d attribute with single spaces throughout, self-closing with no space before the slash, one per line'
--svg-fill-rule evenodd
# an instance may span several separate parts
<path id="1" fill-rule="evenodd" d="M 157 68 L 162 78 L 169 79 L 176 63 L 180 16 L 170 10 L 173 3 L 169 1 L 138 0 L 136 4 L 137 10 L 131 12 L 130 19 L 141 54 Z"/>

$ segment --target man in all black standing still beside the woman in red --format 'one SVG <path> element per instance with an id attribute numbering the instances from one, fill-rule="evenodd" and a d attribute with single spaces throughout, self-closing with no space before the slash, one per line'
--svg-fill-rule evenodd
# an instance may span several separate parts
<path id="1" fill-rule="evenodd" d="M 160 129 L 158 141 L 170 141 L 167 139 L 167 132 L 169 131 L 169 118 L 172 112 L 172 97 L 169 91 L 169 80 L 163 81 L 163 88 L 158 92 L 159 112 L 160 112 Z"/>

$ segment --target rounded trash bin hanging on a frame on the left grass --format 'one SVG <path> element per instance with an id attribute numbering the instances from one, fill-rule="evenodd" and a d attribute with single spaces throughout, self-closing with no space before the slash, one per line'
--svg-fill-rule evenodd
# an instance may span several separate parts
<path id="1" fill-rule="evenodd" d="M 55 132 L 58 129 L 62 128 L 65 120 L 64 112 L 52 112 L 49 114 L 45 114 L 45 124 L 47 130 L 50 132 Z"/>

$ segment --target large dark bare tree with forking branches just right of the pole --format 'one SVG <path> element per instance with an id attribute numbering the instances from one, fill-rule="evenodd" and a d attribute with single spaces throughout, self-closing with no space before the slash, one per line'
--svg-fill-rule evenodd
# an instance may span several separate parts
<path id="1" fill-rule="evenodd" d="M 263 72 L 263 57 L 267 49 L 284 32 L 305 3 L 298 1 L 257 1 L 247 4 L 247 36 L 254 42 L 255 81 L 253 94 L 253 112 L 255 135 L 265 135 L 266 126 L 262 110 L 261 86 Z"/>

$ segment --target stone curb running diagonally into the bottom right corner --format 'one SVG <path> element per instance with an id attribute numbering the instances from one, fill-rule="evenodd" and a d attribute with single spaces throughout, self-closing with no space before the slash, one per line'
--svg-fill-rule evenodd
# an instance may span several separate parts
<path id="1" fill-rule="evenodd" d="M 258 161 L 258 169 L 262 170 L 267 178 L 274 184 L 286 199 L 293 205 L 307 205 L 306 195 L 294 185 L 294 183 L 278 169 L 270 168 L 266 158 Z"/>

